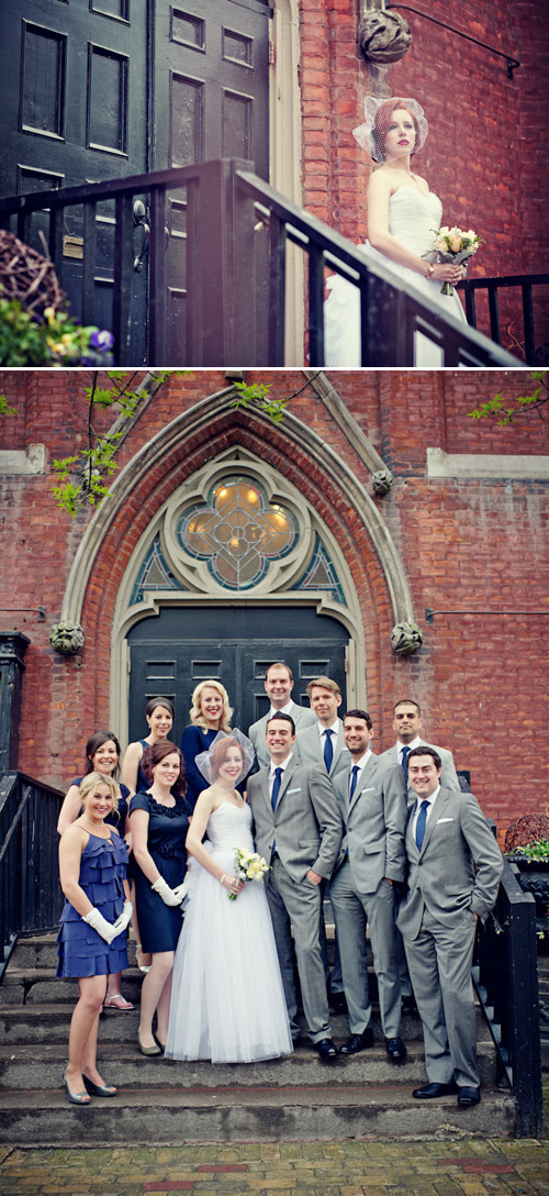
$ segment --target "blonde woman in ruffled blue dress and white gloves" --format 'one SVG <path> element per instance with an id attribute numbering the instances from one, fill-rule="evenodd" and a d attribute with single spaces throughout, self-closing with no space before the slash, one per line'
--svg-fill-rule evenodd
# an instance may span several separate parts
<path id="1" fill-rule="evenodd" d="M 76 976 L 80 996 L 70 1020 L 63 1084 L 72 1104 L 90 1093 L 113 1097 L 97 1069 L 97 1031 L 107 976 L 128 966 L 125 930 L 131 919 L 128 850 L 116 826 L 117 785 L 90 773 L 80 785 L 82 813 L 62 834 L 60 879 L 66 902 L 57 936 L 57 976 Z"/>

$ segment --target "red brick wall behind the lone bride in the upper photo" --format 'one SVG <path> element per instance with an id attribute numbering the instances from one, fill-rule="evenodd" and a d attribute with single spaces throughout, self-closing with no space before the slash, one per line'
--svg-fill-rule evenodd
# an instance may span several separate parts
<path id="1" fill-rule="evenodd" d="M 520 67 L 508 79 L 504 59 L 405 10 L 411 49 L 400 62 L 372 66 L 356 42 L 357 0 L 302 0 L 304 206 L 351 240 L 365 239 L 369 158 L 352 129 L 363 121 L 364 96 L 413 96 L 430 122 L 417 171 L 440 195 L 445 222 L 473 227 L 486 239 L 469 277 L 549 270 L 544 6 L 539 0 L 430 0 L 413 7 L 510 54 Z M 513 335 L 522 335 L 517 303 L 514 293 L 501 299 L 511 348 Z M 549 341 L 547 294 L 543 306 L 539 343 Z M 483 301 L 477 317 L 488 332 Z"/>

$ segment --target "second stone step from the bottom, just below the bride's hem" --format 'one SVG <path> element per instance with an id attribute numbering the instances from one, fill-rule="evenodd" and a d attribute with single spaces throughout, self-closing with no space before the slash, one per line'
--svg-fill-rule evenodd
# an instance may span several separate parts
<path id="1" fill-rule="evenodd" d="M 0 1046 L 0 1091 L 26 1091 L 55 1087 L 67 1062 L 67 1025 L 64 1042 L 41 1044 L 8 1044 Z M 340 1039 L 337 1039 L 340 1041 Z M 311 1087 L 326 1082 L 334 1086 L 408 1084 L 418 1087 L 426 1082 L 422 1041 L 406 1043 L 406 1063 L 390 1063 L 384 1041 L 346 1058 L 340 1055 L 333 1063 L 323 1063 L 308 1043 L 300 1044 L 292 1055 L 258 1063 L 180 1062 L 162 1057 L 146 1058 L 137 1042 L 100 1043 L 100 1070 L 109 1082 L 123 1088 L 150 1090 L 181 1088 L 252 1088 L 252 1087 Z M 479 1070 L 482 1085 L 495 1086 L 496 1073 L 487 1043 L 479 1046 Z"/>

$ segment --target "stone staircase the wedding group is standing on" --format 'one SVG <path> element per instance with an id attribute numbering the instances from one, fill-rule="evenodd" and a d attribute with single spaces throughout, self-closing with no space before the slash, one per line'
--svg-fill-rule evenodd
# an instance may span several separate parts
<path id="1" fill-rule="evenodd" d="M 138 1002 L 141 974 L 123 977 L 124 995 Z M 116 1084 L 113 1100 L 69 1105 L 61 1086 L 76 982 L 55 980 L 55 935 L 19 939 L 0 986 L 0 1141 L 10 1145 L 173 1145 L 192 1141 L 279 1139 L 401 1139 L 506 1136 L 514 1129 L 508 1088 L 496 1084 L 495 1056 L 479 1013 L 482 1102 L 458 1110 L 456 1098 L 417 1102 L 426 1080 L 421 1027 L 406 1017 L 407 1062 L 389 1063 L 375 1011 L 375 1046 L 322 1063 L 310 1046 L 254 1064 L 180 1063 L 144 1058 L 136 1044 L 137 1009 L 100 1018 L 99 1058 Z M 347 1020 L 333 1019 L 335 1042 Z"/>

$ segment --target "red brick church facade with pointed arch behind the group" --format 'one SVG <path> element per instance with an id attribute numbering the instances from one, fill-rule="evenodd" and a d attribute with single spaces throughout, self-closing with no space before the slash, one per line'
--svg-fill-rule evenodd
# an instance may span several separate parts
<path id="1" fill-rule="evenodd" d="M 289 398 L 278 423 L 236 409 L 234 380 L 138 376 L 110 494 L 73 520 L 51 462 L 85 444 L 90 376 L 4 373 L 0 626 L 30 641 L 16 767 L 63 788 L 92 731 L 140 737 L 156 692 L 178 740 L 209 676 L 247 730 L 284 659 L 297 701 L 328 673 L 365 706 L 378 751 L 394 702 L 418 701 L 501 832 L 542 813 L 547 423 L 470 417 L 529 376 L 247 371 Z M 50 641 L 61 621 L 84 631 L 73 653 Z"/>

